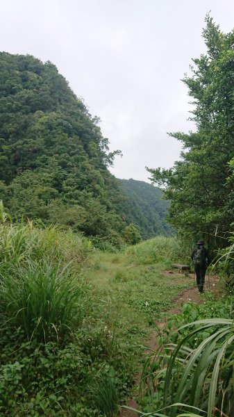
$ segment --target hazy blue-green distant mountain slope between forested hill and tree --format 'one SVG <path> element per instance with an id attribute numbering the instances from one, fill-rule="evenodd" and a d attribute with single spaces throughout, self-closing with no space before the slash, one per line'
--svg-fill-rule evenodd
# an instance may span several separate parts
<path id="1" fill-rule="evenodd" d="M 169 202 L 162 199 L 162 191 L 144 181 L 119 179 L 119 188 L 125 195 L 122 216 L 127 223 L 137 224 L 142 238 L 158 234 L 171 235 L 172 227 L 166 222 Z"/>

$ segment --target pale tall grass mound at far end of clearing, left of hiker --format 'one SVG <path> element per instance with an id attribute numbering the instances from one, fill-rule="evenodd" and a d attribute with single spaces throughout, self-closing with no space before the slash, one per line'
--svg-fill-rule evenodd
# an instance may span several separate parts
<path id="1" fill-rule="evenodd" d="M 147 263 L 188 262 L 190 248 L 175 237 L 156 236 L 126 249 L 129 261 L 138 265 Z"/>

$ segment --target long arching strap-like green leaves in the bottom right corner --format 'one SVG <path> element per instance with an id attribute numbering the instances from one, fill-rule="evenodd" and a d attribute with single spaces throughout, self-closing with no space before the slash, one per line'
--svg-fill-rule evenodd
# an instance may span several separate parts
<path id="1" fill-rule="evenodd" d="M 167 360 L 164 407 L 183 402 L 207 411 L 208 417 L 225 414 L 231 417 L 231 413 L 234 413 L 231 403 L 234 391 L 233 320 L 222 318 L 199 320 L 183 325 L 178 331 L 189 327 L 192 327 L 192 330 L 174 346 L 173 350 L 172 345 L 165 346 L 167 353 L 163 354 L 160 347 L 154 358 L 154 361 L 163 363 L 164 367 L 165 359 Z M 199 346 L 194 350 L 187 349 L 187 341 L 204 331 L 209 335 Z M 171 354 L 168 349 L 172 350 Z M 152 358 L 148 362 L 148 370 L 149 368 L 153 369 Z M 153 377 L 157 378 L 160 371 L 159 369 L 154 373 Z M 149 373 L 147 377 L 149 379 Z M 172 407 L 167 416 L 176 417 L 179 412 L 181 412 L 180 407 Z"/>

